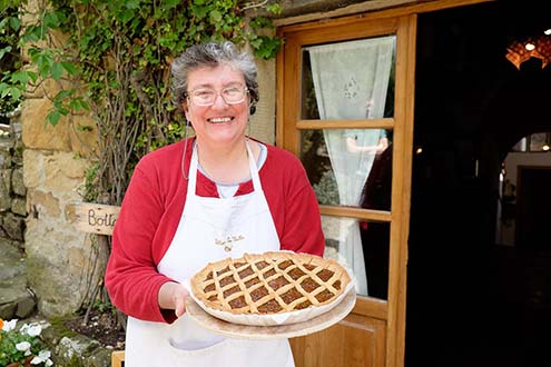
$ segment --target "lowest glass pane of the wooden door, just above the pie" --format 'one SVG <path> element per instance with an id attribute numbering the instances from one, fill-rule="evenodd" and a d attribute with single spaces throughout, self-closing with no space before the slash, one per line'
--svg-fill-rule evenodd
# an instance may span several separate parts
<path id="1" fill-rule="evenodd" d="M 344 266 L 356 280 L 356 292 L 387 298 L 390 224 L 322 216 L 325 258 Z"/>

